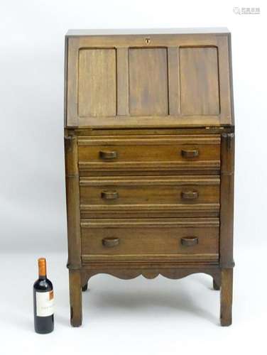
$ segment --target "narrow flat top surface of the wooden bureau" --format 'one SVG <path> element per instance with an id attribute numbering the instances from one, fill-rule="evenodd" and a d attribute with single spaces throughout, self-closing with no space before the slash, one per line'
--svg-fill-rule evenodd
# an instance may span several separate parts
<path id="1" fill-rule="evenodd" d="M 229 33 L 227 27 L 204 28 L 92 28 L 74 29 L 66 33 L 67 37 L 80 37 L 82 35 L 170 35 L 170 34 L 205 34 L 205 33 Z"/>

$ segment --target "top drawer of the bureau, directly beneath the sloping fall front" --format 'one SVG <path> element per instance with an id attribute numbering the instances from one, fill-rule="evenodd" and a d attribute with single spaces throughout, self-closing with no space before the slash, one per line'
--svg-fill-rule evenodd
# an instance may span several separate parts
<path id="1" fill-rule="evenodd" d="M 79 137 L 80 175 L 219 174 L 220 135 Z"/>

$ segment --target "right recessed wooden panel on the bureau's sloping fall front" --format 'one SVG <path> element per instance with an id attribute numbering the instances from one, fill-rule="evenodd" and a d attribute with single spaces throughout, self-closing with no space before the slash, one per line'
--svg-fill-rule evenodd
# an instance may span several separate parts
<path id="1" fill-rule="evenodd" d="M 219 114 L 217 48 L 180 48 L 181 112 Z"/>

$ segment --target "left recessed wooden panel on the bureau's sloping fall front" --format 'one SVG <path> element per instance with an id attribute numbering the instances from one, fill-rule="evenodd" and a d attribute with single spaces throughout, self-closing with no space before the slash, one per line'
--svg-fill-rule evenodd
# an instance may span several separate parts
<path id="1" fill-rule="evenodd" d="M 81 49 L 78 114 L 116 116 L 116 50 Z"/>

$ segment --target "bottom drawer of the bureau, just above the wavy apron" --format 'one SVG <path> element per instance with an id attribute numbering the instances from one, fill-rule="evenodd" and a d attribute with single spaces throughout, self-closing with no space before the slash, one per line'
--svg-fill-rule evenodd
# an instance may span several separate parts
<path id="1" fill-rule="evenodd" d="M 219 258 L 219 219 L 84 219 L 82 261 L 209 261 Z"/>

